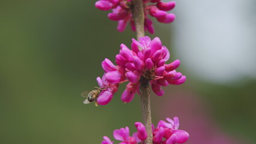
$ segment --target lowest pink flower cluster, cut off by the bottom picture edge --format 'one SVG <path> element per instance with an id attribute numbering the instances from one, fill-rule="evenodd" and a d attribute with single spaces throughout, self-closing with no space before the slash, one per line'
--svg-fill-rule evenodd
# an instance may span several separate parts
<path id="1" fill-rule="evenodd" d="M 153 144 L 174 144 L 174 143 L 185 143 L 189 139 L 189 134 L 186 131 L 178 130 L 179 121 L 177 117 L 174 117 L 174 121 L 170 118 L 166 118 L 168 122 L 159 121 L 157 127 L 153 131 Z M 120 128 L 120 130 L 114 130 L 114 138 L 120 140 L 122 144 L 137 144 L 143 143 L 147 139 L 147 131 L 141 122 L 135 122 L 135 127 L 138 132 L 133 133 L 130 136 L 129 128 Z M 109 137 L 104 136 L 105 140 L 102 144 L 112 144 Z"/>

